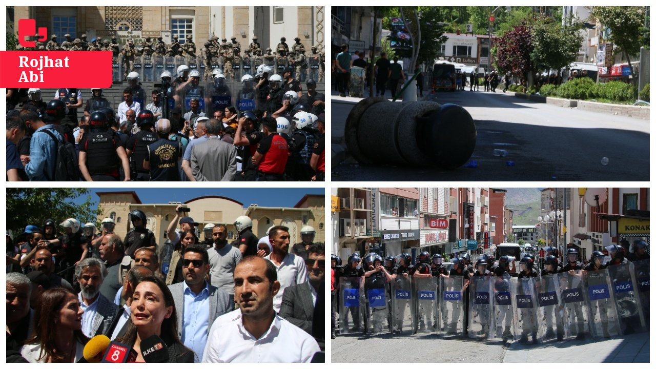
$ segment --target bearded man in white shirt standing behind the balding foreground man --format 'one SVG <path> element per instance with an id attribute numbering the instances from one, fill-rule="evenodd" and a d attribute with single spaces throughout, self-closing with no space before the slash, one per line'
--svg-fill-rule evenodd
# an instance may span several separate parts
<path id="1" fill-rule="evenodd" d="M 308 268 L 302 257 L 289 253 L 289 228 L 281 225 L 269 230 L 269 242 L 272 252 L 264 259 L 270 260 L 276 266 L 280 292 L 274 297 L 274 309 L 280 311 L 283 292 L 289 286 L 295 286 L 308 281 Z"/>

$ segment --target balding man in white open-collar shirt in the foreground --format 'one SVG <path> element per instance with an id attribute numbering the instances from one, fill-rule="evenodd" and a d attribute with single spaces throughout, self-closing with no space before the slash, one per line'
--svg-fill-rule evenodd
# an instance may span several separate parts
<path id="1" fill-rule="evenodd" d="M 274 311 L 280 283 L 273 263 L 247 256 L 234 276 L 239 310 L 216 318 L 203 362 L 310 362 L 317 342 Z"/>

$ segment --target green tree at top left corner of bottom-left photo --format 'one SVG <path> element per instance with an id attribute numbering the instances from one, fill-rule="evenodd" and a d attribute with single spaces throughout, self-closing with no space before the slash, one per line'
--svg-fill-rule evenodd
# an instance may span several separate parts
<path id="1" fill-rule="evenodd" d="M 88 188 L 7 188 L 7 230 L 20 234 L 26 225 L 41 228 L 49 218 L 56 223 L 67 218 L 96 223 L 101 210 L 92 209 L 91 196 L 81 205 L 72 201 L 85 194 Z"/>

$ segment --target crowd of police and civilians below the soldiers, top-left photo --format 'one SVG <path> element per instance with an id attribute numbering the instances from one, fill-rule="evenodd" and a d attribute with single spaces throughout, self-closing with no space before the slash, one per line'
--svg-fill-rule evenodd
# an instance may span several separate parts
<path id="1" fill-rule="evenodd" d="M 8 89 L 7 180 L 323 181 L 325 96 L 314 79 L 303 93 L 292 68 L 262 65 L 242 77 L 234 105 L 220 70 L 207 88 L 197 70 L 178 72 L 163 73 L 148 104 L 136 72 L 116 107 L 102 89 L 85 104 L 79 89 L 52 100 Z"/>

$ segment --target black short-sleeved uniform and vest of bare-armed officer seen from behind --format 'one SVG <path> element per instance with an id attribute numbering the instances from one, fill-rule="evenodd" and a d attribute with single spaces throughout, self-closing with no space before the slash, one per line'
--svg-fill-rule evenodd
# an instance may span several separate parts
<path id="1" fill-rule="evenodd" d="M 121 159 L 116 149 L 123 146 L 119 135 L 110 129 L 105 132 L 91 132 L 79 145 L 81 152 L 87 153 L 87 169 L 94 181 L 118 181 Z"/>

